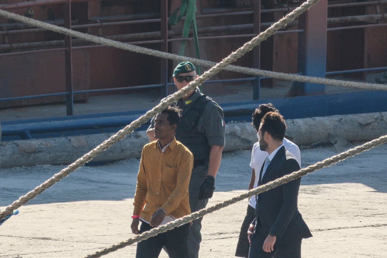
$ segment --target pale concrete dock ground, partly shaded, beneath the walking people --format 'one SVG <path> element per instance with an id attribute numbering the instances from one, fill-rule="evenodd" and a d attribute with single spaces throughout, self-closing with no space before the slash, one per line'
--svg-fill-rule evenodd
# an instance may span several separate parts
<path id="1" fill-rule="evenodd" d="M 354 143 L 350 147 L 360 145 Z M 387 254 L 387 145 L 303 176 L 298 207 L 313 237 L 302 257 L 384 258 Z M 301 150 L 302 167 L 337 154 Z M 247 190 L 250 150 L 223 154 L 209 206 Z M 133 237 L 130 230 L 139 160 L 81 167 L 19 208 L 0 226 L 0 257 L 85 257 Z M 65 166 L 0 169 L 0 209 Z M 203 219 L 200 257 L 234 257 L 247 200 Z M 104 257 L 135 257 L 136 244 Z M 161 251 L 160 257 L 168 257 Z"/>

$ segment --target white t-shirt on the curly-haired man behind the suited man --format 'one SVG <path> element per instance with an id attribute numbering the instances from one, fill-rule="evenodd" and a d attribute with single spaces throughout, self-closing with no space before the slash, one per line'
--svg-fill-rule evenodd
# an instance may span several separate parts
<path id="1" fill-rule="evenodd" d="M 296 157 L 298 164 L 301 166 L 301 154 L 298 146 L 285 138 L 283 140 L 283 145 L 285 146 L 286 150 L 288 150 L 288 152 L 290 152 Z M 256 142 L 253 146 L 253 151 L 251 153 L 251 162 L 250 162 L 250 167 L 253 168 L 255 171 L 254 188 L 258 187 L 259 172 L 261 171 L 262 164 L 264 164 L 267 155 L 269 155 L 269 153 L 260 150 L 259 142 Z M 248 205 L 255 208 L 255 204 L 256 204 L 255 196 L 251 196 L 250 199 L 248 200 Z"/>

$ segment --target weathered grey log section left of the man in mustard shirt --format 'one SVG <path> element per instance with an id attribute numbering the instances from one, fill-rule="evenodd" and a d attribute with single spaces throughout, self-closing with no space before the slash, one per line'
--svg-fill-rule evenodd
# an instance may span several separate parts
<path id="1" fill-rule="evenodd" d="M 68 136 L 45 139 L 0 142 L 0 167 L 32 166 L 36 164 L 70 164 L 109 138 L 111 133 Z M 148 142 L 145 131 L 133 132 L 92 161 L 115 161 L 140 158 Z"/>

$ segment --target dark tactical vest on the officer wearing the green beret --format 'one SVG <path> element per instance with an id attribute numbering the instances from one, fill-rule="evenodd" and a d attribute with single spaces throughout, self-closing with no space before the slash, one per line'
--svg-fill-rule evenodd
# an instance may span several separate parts
<path id="1" fill-rule="evenodd" d="M 206 164 L 210 157 L 211 146 L 204 133 L 199 133 L 197 125 L 210 97 L 201 95 L 193 104 L 183 110 L 182 118 L 176 129 L 176 140 L 187 147 L 194 155 L 194 164 Z"/>

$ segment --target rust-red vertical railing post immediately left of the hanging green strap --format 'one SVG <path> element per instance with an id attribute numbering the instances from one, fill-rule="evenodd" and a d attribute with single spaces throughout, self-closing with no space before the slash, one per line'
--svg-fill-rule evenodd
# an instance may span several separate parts
<path id="1" fill-rule="evenodd" d="M 168 0 L 161 1 L 160 6 L 161 21 L 160 21 L 160 31 L 161 31 L 161 51 L 168 53 Z M 168 59 L 161 59 L 160 64 L 160 80 L 164 84 L 161 87 L 161 97 L 168 96 Z"/>

